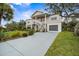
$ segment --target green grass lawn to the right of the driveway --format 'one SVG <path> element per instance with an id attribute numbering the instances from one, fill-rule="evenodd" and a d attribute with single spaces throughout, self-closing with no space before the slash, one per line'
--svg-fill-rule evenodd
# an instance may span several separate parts
<path id="1" fill-rule="evenodd" d="M 79 37 L 72 32 L 61 32 L 50 46 L 46 56 L 79 56 Z"/>

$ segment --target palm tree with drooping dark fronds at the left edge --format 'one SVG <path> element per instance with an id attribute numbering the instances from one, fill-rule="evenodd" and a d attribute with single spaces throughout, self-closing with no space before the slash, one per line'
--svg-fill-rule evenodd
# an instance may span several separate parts
<path id="1" fill-rule="evenodd" d="M 7 3 L 0 3 L 0 26 L 2 19 L 9 21 L 13 18 L 13 10 Z"/>

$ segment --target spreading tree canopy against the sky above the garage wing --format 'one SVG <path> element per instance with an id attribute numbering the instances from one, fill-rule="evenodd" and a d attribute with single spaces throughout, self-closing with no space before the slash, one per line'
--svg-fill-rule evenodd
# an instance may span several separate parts
<path id="1" fill-rule="evenodd" d="M 51 14 L 59 14 L 60 16 L 70 17 L 79 8 L 77 3 L 47 3 L 46 10 Z"/>

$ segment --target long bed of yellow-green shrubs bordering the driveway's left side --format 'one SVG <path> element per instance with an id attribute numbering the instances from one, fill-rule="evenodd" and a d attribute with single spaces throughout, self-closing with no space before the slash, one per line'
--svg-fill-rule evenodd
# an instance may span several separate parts
<path id="1" fill-rule="evenodd" d="M 33 30 L 26 31 L 9 31 L 9 32 L 0 32 L 0 42 L 11 40 L 14 38 L 27 37 L 29 35 L 33 35 Z"/>

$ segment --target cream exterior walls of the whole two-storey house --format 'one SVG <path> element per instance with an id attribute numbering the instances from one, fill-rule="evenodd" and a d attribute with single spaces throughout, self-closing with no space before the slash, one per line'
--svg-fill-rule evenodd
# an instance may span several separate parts
<path id="1" fill-rule="evenodd" d="M 34 14 L 33 16 L 38 15 L 38 14 L 41 14 L 41 13 L 36 12 L 36 14 Z M 55 19 L 55 17 L 56 17 L 56 19 Z M 54 19 L 52 20 L 52 18 L 54 18 Z M 46 29 L 48 32 L 50 32 L 49 26 L 50 25 L 57 25 L 58 26 L 58 32 L 61 32 L 62 31 L 61 30 L 62 29 L 61 28 L 62 27 L 62 24 L 61 24 L 62 21 L 61 20 L 62 20 L 62 18 L 59 15 L 47 16 L 46 17 L 46 20 L 45 20 L 44 17 L 43 18 L 41 18 L 41 17 L 40 18 L 37 18 L 36 17 L 35 19 L 28 20 L 26 22 L 26 27 L 28 27 L 28 25 L 32 25 L 35 22 L 35 23 L 39 23 L 40 24 L 40 26 L 38 26 L 40 29 L 41 29 L 41 26 L 43 25 L 43 28 Z M 28 22 L 30 22 L 30 23 L 28 23 Z"/>

